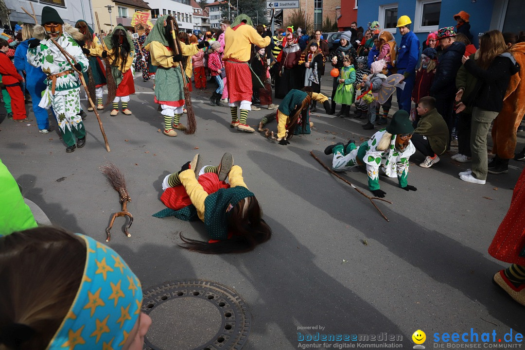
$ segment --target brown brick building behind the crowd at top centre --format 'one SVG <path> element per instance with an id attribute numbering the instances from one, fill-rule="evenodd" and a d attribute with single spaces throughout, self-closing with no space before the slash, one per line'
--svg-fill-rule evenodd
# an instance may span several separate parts
<path id="1" fill-rule="evenodd" d="M 353 0 L 299 0 L 299 6 L 309 26 L 313 29 L 321 29 L 327 17 L 331 23 L 337 21 L 336 7 L 341 6 L 343 2 L 351 1 Z M 282 10 L 283 26 L 289 24 L 289 18 L 294 12 L 297 12 L 297 9 L 286 8 Z"/>

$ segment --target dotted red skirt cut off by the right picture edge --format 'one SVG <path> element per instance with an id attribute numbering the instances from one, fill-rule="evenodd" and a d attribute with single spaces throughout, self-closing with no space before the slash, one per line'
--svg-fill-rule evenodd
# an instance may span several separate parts
<path id="1" fill-rule="evenodd" d="M 525 169 L 514 186 L 507 215 L 490 243 L 489 254 L 498 260 L 525 266 L 519 253 L 525 247 Z"/>

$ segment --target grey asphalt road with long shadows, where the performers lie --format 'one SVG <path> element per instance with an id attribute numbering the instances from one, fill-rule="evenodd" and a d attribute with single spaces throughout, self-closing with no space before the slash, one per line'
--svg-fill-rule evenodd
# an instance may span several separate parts
<path id="1" fill-rule="evenodd" d="M 381 189 L 392 201 L 377 204 L 387 222 L 368 199 L 309 154 L 314 150 L 330 164 L 331 158 L 322 153 L 327 145 L 370 137 L 373 131 L 363 131 L 355 119 L 312 115 L 312 133 L 281 146 L 258 133 L 230 129 L 229 108 L 211 107 L 208 88 L 192 93 L 197 132 L 170 138 L 160 132 L 152 81 L 142 82 L 137 75 L 135 83 L 137 94 L 129 103 L 133 115 L 101 113 L 110 153 L 95 115 L 88 113 L 87 144 L 71 154 L 59 140 L 56 123 L 52 132 L 42 135 L 36 121 L 26 125 L 5 120 L 0 125 L 0 157 L 23 186 L 24 196 L 51 222 L 100 241 L 120 204 L 98 168 L 107 161 L 116 164 L 125 174 L 134 222 L 127 238 L 118 218 L 109 245 L 129 263 L 144 289 L 186 279 L 235 289 L 253 315 L 245 349 L 297 348 L 297 332 L 387 332 L 401 334 L 401 344 L 408 347 L 414 345 L 411 336 L 418 329 L 429 340 L 436 332 L 470 328 L 480 334 L 496 330 L 498 336 L 510 328 L 525 331 L 522 307 L 491 283 L 492 275 L 507 264 L 487 253 L 522 162 L 510 161 L 508 174 L 489 174 L 482 186 L 460 181 L 457 173 L 469 164 L 451 161 L 454 153 L 443 155 L 429 169 L 417 166 L 424 157 L 416 153 L 410 159 L 408 183 L 417 192 L 398 188 L 396 179 L 381 178 Z M 330 89 L 331 81 L 324 77 L 323 90 Z M 251 112 L 249 124 L 255 126 L 266 113 Z M 275 122 L 268 127 L 277 130 Z M 519 137 L 519 145 L 523 142 Z M 162 179 L 197 152 L 214 165 L 226 151 L 243 168 L 245 182 L 273 230 L 272 239 L 243 254 L 208 256 L 178 248 L 180 231 L 207 238 L 201 222 L 151 216 L 164 208 L 159 200 Z M 367 193 L 362 170 L 343 176 Z M 325 328 L 298 331 L 308 326 Z M 428 340 L 425 345 L 432 346 Z"/>

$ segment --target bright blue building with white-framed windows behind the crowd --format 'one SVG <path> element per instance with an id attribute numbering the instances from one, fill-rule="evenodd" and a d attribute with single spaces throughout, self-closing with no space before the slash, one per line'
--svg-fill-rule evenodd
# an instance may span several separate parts
<path id="1" fill-rule="evenodd" d="M 454 15 L 463 10 L 470 15 L 470 33 L 476 38 L 491 29 L 514 33 L 523 30 L 523 3 L 523 0 L 391 0 L 389 3 L 367 0 L 358 10 L 357 22 L 364 25 L 379 20 L 381 27 L 393 33 L 399 43 L 397 18 L 406 15 L 412 20 L 411 30 L 423 44 L 430 31 L 455 26 Z M 478 40 L 474 41 L 472 44 L 477 47 Z"/>

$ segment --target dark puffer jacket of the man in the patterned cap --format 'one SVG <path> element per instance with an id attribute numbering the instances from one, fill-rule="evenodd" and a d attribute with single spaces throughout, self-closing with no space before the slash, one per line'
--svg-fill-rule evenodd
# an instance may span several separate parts
<path id="1" fill-rule="evenodd" d="M 435 98 L 451 98 L 456 95 L 456 74 L 461 67 L 461 57 L 465 55 L 465 44 L 455 41 L 443 50 L 430 87 L 430 96 Z"/>

